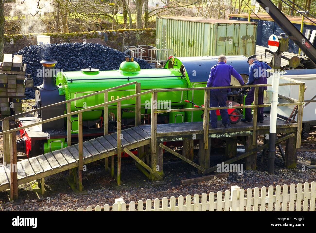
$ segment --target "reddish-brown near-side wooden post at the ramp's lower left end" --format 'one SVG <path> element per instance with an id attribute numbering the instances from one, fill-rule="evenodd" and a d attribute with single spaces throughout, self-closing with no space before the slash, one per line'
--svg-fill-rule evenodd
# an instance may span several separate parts
<path id="1" fill-rule="evenodd" d="M 10 199 L 18 199 L 18 177 L 16 164 L 16 132 L 9 134 L 9 151 L 10 151 Z"/>

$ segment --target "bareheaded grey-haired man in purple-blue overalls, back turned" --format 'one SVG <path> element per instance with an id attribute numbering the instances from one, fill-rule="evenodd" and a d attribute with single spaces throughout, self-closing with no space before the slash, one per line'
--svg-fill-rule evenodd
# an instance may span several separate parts
<path id="1" fill-rule="evenodd" d="M 206 87 L 225 87 L 230 86 L 230 78 L 233 75 L 240 83 L 245 85 L 242 77 L 231 66 L 226 64 L 226 56 L 220 55 L 218 57 L 218 64 L 211 68 L 209 80 Z M 230 88 L 226 89 L 211 89 L 210 90 L 210 107 L 226 107 L 227 93 Z M 225 128 L 230 128 L 227 109 L 220 110 L 222 117 L 222 125 Z M 217 128 L 216 110 L 210 110 L 211 125 L 213 129 Z"/>

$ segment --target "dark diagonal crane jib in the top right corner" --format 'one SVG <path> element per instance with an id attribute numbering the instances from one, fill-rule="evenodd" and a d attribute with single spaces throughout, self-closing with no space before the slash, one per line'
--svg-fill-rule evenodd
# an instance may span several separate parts
<path id="1" fill-rule="evenodd" d="M 283 15 L 270 0 L 256 0 L 259 5 L 271 16 L 280 28 L 293 40 L 295 44 L 316 65 L 316 48 L 308 39 Z"/>

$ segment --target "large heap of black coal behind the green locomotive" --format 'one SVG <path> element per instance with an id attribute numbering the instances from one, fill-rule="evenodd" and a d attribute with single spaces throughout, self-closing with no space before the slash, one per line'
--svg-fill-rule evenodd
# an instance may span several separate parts
<path id="1" fill-rule="evenodd" d="M 126 54 L 117 49 L 95 43 L 54 43 L 46 45 L 30 45 L 19 50 L 16 54 L 23 55 L 23 63 L 27 63 L 26 73 L 31 73 L 34 87 L 43 82 L 41 75 L 43 59 L 54 59 L 58 63 L 57 70 L 75 71 L 83 68 L 97 68 L 100 70 L 119 69 Z M 152 68 L 146 61 L 135 58 L 141 69 Z M 26 88 L 25 99 L 34 99 L 35 91 Z"/>

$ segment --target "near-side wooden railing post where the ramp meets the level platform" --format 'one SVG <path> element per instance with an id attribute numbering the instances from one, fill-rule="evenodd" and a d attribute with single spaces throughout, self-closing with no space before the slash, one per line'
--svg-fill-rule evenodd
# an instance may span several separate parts
<path id="1" fill-rule="evenodd" d="M 150 165 L 151 169 L 156 170 L 156 157 L 157 157 L 157 92 L 151 93 L 151 137 L 150 137 Z"/>

